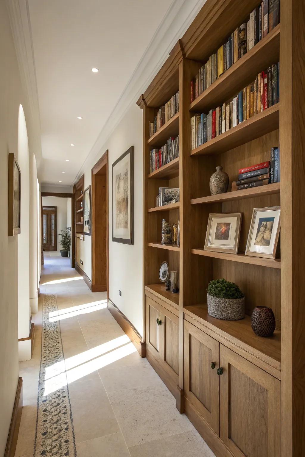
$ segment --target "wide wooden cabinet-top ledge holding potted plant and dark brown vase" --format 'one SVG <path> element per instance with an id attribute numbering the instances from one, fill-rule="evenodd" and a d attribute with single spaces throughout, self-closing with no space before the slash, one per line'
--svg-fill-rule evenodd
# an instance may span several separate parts
<path id="1" fill-rule="evenodd" d="M 245 319 L 230 321 L 215 319 L 209 315 L 207 304 L 187 306 L 183 308 L 183 311 L 185 319 L 188 320 L 188 316 L 193 318 L 215 332 L 221 339 L 256 356 L 263 363 L 278 370 L 278 377 L 280 377 L 281 333 L 279 330 L 276 329 L 269 338 L 262 338 L 253 332 L 250 316 L 246 315 Z"/>

